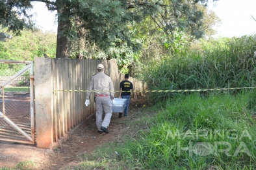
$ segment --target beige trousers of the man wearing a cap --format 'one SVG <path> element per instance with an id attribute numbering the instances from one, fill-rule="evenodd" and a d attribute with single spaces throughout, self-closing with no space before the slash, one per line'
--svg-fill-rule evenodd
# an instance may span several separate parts
<path id="1" fill-rule="evenodd" d="M 105 117 L 102 119 L 103 110 L 105 112 Z M 108 128 L 110 119 L 112 117 L 112 100 L 109 96 L 106 97 L 96 97 L 96 125 L 99 131 L 101 127 Z"/>

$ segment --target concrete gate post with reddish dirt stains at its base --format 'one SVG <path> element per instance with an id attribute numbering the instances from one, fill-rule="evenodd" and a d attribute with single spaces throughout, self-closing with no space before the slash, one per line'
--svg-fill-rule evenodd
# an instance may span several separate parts
<path id="1" fill-rule="evenodd" d="M 53 146 L 53 73 L 51 58 L 34 58 L 36 146 Z"/>

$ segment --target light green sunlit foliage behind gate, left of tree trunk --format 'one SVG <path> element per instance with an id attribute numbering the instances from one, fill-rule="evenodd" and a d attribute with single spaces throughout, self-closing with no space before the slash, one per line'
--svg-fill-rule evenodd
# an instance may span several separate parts
<path id="1" fill-rule="evenodd" d="M 11 33 L 9 33 L 11 34 Z M 1 60 L 34 60 L 34 57 L 56 56 L 56 38 L 53 32 L 23 31 L 8 42 L 0 42 Z"/>

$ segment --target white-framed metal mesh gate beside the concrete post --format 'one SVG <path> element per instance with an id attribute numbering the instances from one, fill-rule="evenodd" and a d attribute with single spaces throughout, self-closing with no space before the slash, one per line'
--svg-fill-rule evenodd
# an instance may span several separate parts
<path id="1" fill-rule="evenodd" d="M 0 60 L 0 140 L 35 143 L 33 62 Z"/>

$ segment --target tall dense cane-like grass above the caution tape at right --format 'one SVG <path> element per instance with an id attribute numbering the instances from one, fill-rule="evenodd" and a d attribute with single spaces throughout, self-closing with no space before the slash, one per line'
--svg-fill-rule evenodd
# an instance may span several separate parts
<path id="1" fill-rule="evenodd" d="M 145 65 L 142 75 L 149 90 L 254 86 L 255 44 L 247 36 L 223 41 L 204 44 L 203 51 L 190 51 L 186 55 L 177 54 Z M 152 101 L 169 99 L 173 95 L 149 94 Z"/>

